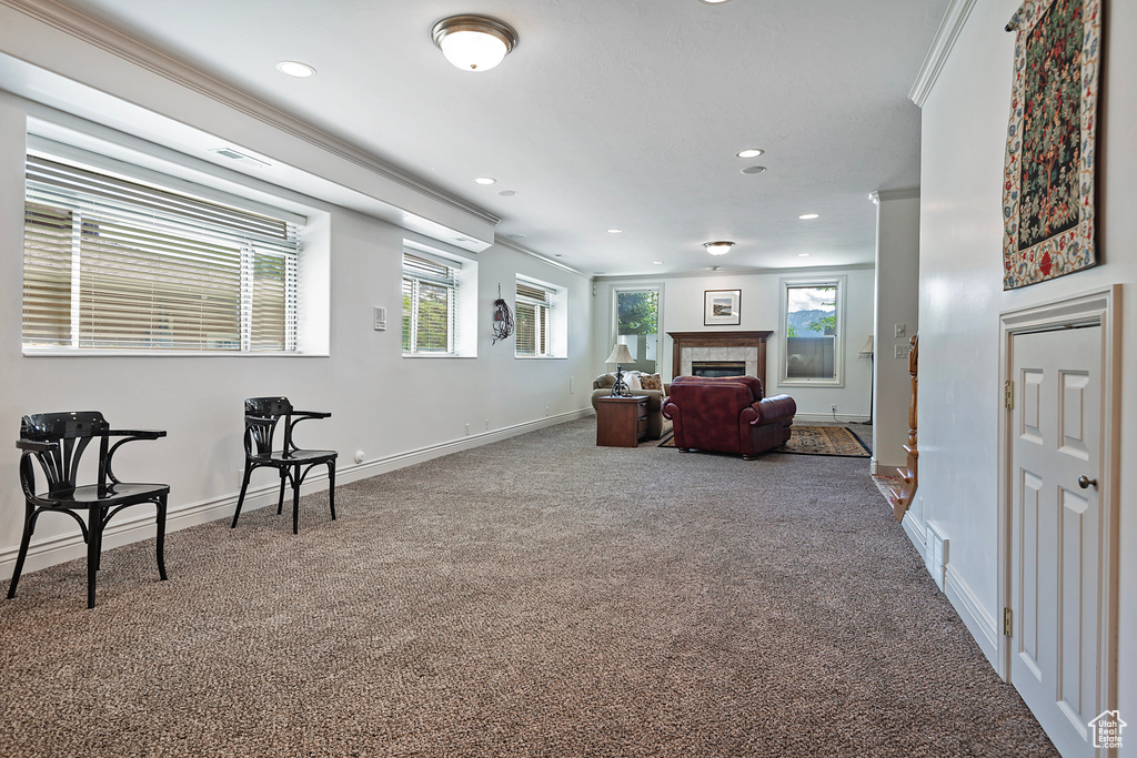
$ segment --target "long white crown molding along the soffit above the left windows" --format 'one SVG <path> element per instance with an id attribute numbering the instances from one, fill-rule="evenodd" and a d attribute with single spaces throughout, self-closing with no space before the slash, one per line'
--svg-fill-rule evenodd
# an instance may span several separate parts
<path id="1" fill-rule="evenodd" d="M 57 2 L 57 0 L 0 0 L 0 5 L 7 6 L 13 10 L 122 58 L 140 68 L 144 68 L 152 74 L 157 74 L 180 86 L 215 100 L 263 124 L 267 124 L 273 128 L 308 142 L 384 180 L 417 192 L 430 200 L 460 210 L 492 226 L 497 226 L 501 220 L 493 214 L 388 164 L 367 150 L 316 128 L 312 124 L 280 110 L 275 106 L 259 100 L 221 80 L 214 78 L 96 18 L 68 8 Z"/>

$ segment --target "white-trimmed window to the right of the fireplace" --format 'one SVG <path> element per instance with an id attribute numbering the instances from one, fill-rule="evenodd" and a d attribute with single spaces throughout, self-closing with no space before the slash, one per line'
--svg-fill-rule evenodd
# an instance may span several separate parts
<path id="1" fill-rule="evenodd" d="M 845 280 L 781 281 L 779 384 L 844 386 Z"/>

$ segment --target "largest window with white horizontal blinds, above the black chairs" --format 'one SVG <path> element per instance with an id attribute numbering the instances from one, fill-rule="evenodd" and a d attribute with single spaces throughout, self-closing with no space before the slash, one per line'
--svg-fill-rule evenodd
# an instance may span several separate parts
<path id="1" fill-rule="evenodd" d="M 296 351 L 299 232 L 28 155 L 25 351 Z"/>

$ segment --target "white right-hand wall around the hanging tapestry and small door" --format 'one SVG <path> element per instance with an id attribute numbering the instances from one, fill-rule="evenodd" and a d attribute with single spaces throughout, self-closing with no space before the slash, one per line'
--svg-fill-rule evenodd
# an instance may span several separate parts
<path id="1" fill-rule="evenodd" d="M 1137 3 L 1109 2 L 1098 133 L 1098 255 L 1090 270 L 1003 291 L 1003 159 L 1020 0 L 974 3 L 924 106 L 920 230 L 920 489 L 951 540 L 949 589 L 989 657 L 996 564 L 1001 311 L 1137 277 Z M 1123 310 L 1122 343 L 1137 334 Z M 1122 349 L 1118 706 L 1137 713 L 1137 353 Z M 989 628 L 987 633 L 994 633 Z M 994 661 L 993 661 L 994 663 Z M 1130 719 L 1131 723 L 1131 719 Z"/>

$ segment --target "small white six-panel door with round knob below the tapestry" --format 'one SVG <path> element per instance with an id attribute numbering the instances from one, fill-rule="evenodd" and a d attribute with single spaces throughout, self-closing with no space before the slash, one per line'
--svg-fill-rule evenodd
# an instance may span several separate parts
<path id="1" fill-rule="evenodd" d="M 1094 755 L 1102 705 L 1101 332 L 1016 334 L 1012 348 L 1011 683 L 1064 758 Z"/>

